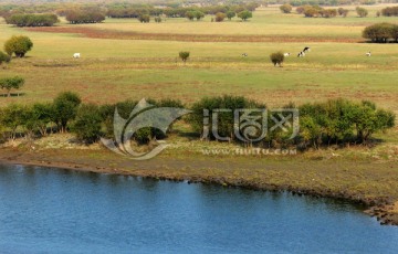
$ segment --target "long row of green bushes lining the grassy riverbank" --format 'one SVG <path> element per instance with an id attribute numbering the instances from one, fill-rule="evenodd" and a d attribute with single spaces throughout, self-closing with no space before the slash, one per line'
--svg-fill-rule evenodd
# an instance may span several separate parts
<path id="1" fill-rule="evenodd" d="M 179 100 L 148 100 L 157 107 L 177 107 L 184 105 Z M 60 94 L 53 103 L 34 104 L 31 106 L 9 105 L 0 110 L 0 128 L 6 138 L 15 138 L 17 134 L 28 137 L 45 136 L 51 130 L 72 130 L 84 142 L 94 142 L 100 136 L 114 138 L 114 113 L 124 119 L 130 117 L 132 110 L 138 102 L 125 100 L 117 104 L 94 105 L 81 104 L 78 95 L 65 92 Z M 266 108 L 264 104 L 235 96 L 220 96 L 202 98 L 191 106 L 192 113 L 185 120 L 191 125 L 199 137 L 203 131 L 203 109 L 218 108 Z M 373 134 L 395 126 L 395 115 L 389 110 L 378 109 L 370 102 L 353 103 L 346 99 L 334 99 L 325 103 L 304 104 L 295 107 L 289 104 L 285 108 L 300 110 L 300 133 L 291 139 L 292 133 L 274 129 L 269 131 L 260 144 L 269 147 L 296 146 L 300 148 L 328 146 L 331 144 L 347 145 L 367 142 Z M 281 113 L 269 112 L 268 124 L 272 126 L 272 118 Z M 285 114 L 285 113 L 283 113 Z M 286 117 L 287 115 L 285 115 Z M 209 120 L 212 129 L 212 118 Z M 240 141 L 235 136 L 233 114 L 220 113 L 218 116 L 218 134 L 228 137 L 230 141 Z M 291 127 L 286 127 L 292 130 Z M 251 136 L 258 133 L 250 133 Z M 133 138 L 145 144 L 153 138 L 161 139 L 165 135 L 155 128 L 145 127 L 135 133 Z M 210 131 L 210 139 L 216 139 Z"/>

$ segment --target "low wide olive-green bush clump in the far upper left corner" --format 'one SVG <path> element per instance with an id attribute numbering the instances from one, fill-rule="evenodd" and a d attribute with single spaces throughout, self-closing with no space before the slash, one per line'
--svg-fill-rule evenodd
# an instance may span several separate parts
<path id="1" fill-rule="evenodd" d="M 52 27 L 60 21 L 56 14 L 13 14 L 6 22 L 17 27 Z"/>

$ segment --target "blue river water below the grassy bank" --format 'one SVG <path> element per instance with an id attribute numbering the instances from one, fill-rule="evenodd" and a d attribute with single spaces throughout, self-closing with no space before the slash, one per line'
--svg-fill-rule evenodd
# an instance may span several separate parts
<path id="1" fill-rule="evenodd" d="M 205 184 L 0 166 L 0 253 L 398 253 L 357 205 Z"/>

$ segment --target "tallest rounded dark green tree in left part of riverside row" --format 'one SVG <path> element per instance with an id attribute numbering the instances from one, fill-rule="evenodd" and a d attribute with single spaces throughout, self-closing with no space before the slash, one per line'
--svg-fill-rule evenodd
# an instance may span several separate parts
<path id="1" fill-rule="evenodd" d="M 54 99 L 52 120 L 61 133 L 65 133 L 67 124 L 75 118 L 81 102 L 80 96 L 73 92 L 61 93 Z"/>

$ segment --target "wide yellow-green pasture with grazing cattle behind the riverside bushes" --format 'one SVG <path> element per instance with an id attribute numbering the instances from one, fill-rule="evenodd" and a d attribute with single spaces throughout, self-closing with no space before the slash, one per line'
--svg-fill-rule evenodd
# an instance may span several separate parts
<path id="1" fill-rule="evenodd" d="M 0 44 L 25 34 L 34 47 L 28 57 L 0 70 L 1 76 L 19 74 L 27 80 L 23 96 L 3 97 L 0 106 L 51 100 L 62 91 L 75 91 L 84 102 L 98 104 L 172 97 L 189 105 L 203 96 L 233 94 L 277 107 L 345 97 L 370 99 L 398 113 L 398 46 L 365 43 L 360 35 L 368 24 L 397 22 L 376 18 L 384 7 L 366 7 L 368 18 L 357 18 L 355 7 L 346 7 L 347 18 L 311 19 L 282 14 L 271 6 L 260 8 L 248 22 L 234 18 L 217 23 L 206 17 L 71 25 L 63 20 L 50 30 L 1 21 Z M 312 51 L 296 57 L 304 46 Z M 187 64 L 178 59 L 179 51 L 190 51 Z M 275 51 L 292 53 L 282 68 L 270 63 Z M 371 57 L 365 56 L 368 51 Z M 75 52 L 82 57 L 74 60 Z"/>

